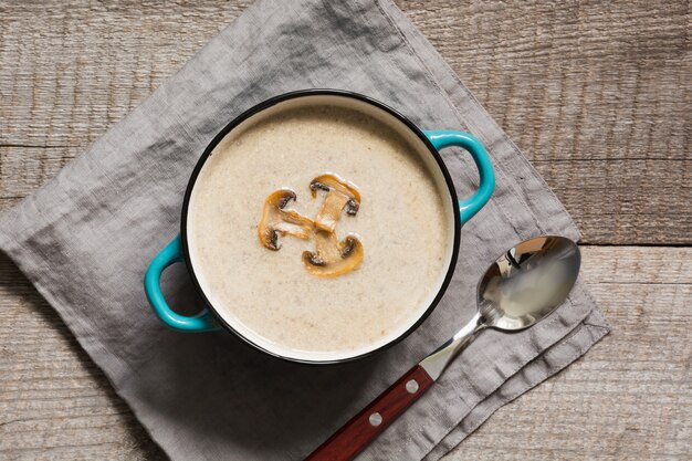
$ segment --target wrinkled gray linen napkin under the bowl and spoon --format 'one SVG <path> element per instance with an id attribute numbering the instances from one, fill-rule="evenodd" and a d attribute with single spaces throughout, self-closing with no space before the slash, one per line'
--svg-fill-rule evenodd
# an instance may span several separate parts
<path id="1" fill-rule="evenodd" d="M 184 189 L 206 145 L 248 107 L 306 87 L 357 91 L 422 128 L 468 130 L 497 175 L 493 199 L 463 229 L 457 273 L 436 312 L 396 347 L 339 366 L 280 362 L 227 333 L 172 332 L 143 292 L 147 264 L 178 233 Z M 443 157 L 459 195 L 470 195 L 478 179 L 468 156 Z M 578 238 L 536 171 L 390 0 L 255 3 L 0 219 L 0 248 L 178 460 L 306 455 L 471 316 L 475 283 L 496 254 L 542 233 Z M 185 271 L 169 272 L 171 304 L 199 305 Z M 439 459 L 607 332 L 578 283 L 536 327 L 483 333 L 359 459 Z"/>

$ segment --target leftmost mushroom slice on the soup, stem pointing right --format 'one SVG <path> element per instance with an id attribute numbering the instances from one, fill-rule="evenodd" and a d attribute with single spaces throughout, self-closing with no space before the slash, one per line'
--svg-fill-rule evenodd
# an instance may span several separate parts
<path id="1" fill-rule="evenodd" d="M 310 238 L 315 223 L 297 211 L 284 210 L 291 200 L 295 200 L 295 192 L 291 189 L 279 189 L 264 200 L 262 220 L 258 226 L 258 235 L 263 247 L 279 250 L 279 237 L 286 234 L 303 240 Z"/>

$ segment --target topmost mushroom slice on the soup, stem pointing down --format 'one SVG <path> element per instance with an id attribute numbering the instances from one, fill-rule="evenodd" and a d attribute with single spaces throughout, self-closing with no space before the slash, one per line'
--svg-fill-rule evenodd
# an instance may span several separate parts
<path id="1" fill-rule="evenodd" d="M 334 174 L 317 176 L 310 184 L 310 192 L 313 198 L 318 190 L 324 190 L 327 196 L 315 218 L 315 226 L 327 232 L 334 232 L 336 222 L 342 217 L 342 211 L 355 216 L 360 207 L 360 192 L 355 185 Z"/>

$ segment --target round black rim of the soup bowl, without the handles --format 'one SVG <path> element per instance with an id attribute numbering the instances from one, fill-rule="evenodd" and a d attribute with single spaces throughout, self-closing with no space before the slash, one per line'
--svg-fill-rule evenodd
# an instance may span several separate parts
<path id="1" fill-rule="evenodd" d="M 235 328 L 233 328 L 217 312 L 217 310 L 213 307 L 212 303 L 209 301 L 209 298 L 205 294 L 205 291 L 202 290 L 199 281 L 197 279 L 197 275 L 195 274 L 195 269 L 192 268 L 192 263 L 190 262 L 190 253 L 189 253 L 188 239 L 187 239 L 188 207 L 189 207 L 189 202 L 190 202 L 190 197 L 192 195 L 192 189 L 195 188 L 195 184 L 197 181 L 199 172 L 201 171 L 202 167 L 205 166 L 205 163 L 210 157 L 211 153 L 217 147 L 217 145 L 233 128 L 235 128 L 238 125 L 240 125 L 241 123 L 243 123 L 245 119 L 250 118 L 251 116 L 253 116 L 253 115 L 255 115 L 255 114 L 258 114 L 258 113 L 260 113 L 260 112 L 262 112 L 262 111 L 264 111 L 264 109 L 266 109 L 269 107 L 272 107 L 272 106 L 274 106 L 274 105 L 276 105 L 279 103 L 283 103 L 283 102 L 289 101 L 289 99 L 293 99 L 293 98 L 297 98 L 297 97 L 305 97 L 305 96 L 338 96 L 338 97 L 348 97 L 348 98 L 358 99 L 360 102 L 365 102 L 365 103 L 368 103 L 370 105 L 374 105 L 374 106 L 376 106 L 376 107 L 387 112 L 389 115 L 392 115 L 399 122 L 402 122 L 411 132 L 413 132 L 413 134 L 416 134 L 418 136 L 418 138 L 420 140 L 423 142 L 426 147 L 428 147 L 428 150 L 430 151 L 430 154 L 436 159 L 436 161 L 438 164 L 438 167 L 440 168 L 440 170 L 441 170 L 441 172 L 442 172 L 442 175 L 444 177 L 444 181 L 447 182 L 447 188 L 449 190 L 450 198 L 452 200 L 452 205 L 453 205 L 452 209 L 453 209 L 453 214 L 454 214 L 454 240 L 453 240 L 452 255 L 451 255 L 451 260 L 450 260 L 450 263 L 449 263 L 449 268 L 447 270 L 447 274 L 444 275 L 444 280 L 442 281 L 442 285 L 440 285 L 440 290 L 436 294 L 434 298 L 432 300 L 432 302 L 430 303 L 430 306 L 428 306 L 426 312 L 423 312 L 422 315 L 418 318 L 418 321 L 416 321 L 416 323 L 413 323 L 413 325 L 411 325 L 406 332 L 403 332 L 401 335 L 399 335 L 397 338 L 390 340 L 389 343 L 384 344 L 380 347 L 378 347 L 376 349 L 373 349 L 373 350 L 369 350 L 369 352 L 364 353 L 364 354 L 359 354 L 359 355 L 352 356 L 352 357 L 338 358 L 338 359 L 329 359 L 329 360 L 311 360 L 311 359 L 303 359 L 303 358 L 284 356 L 284 355 L 281 355 L 281 354 L 276 353 L 276 352 L 269 350 L 265 347 L 260 346 L 259 344 L 253 343 L 252 340 L 250 340 L 249 338 L 243 336 L 240 332 L 238 332 Z M 190 179 L 188 181 L 187 189 L 185 191 L 185 198 L 184 198 L 184 201 L 182 201 L 182 212 L 181 212 L 181 217 L 180 217 L 180 234 L 181 234 L 181 241 L 182 241 L 182 251 L 184 251 L 184 256 L 185 256 L 184 258 L 185 259 L 185 265 L 186 265 L 186 268 L 188 270 L 188 273 L 190 275 L 192 284 L 195 285 L 195 289 L 200 294 L 200 296 L 205 301 L 205 304 L 207 305 L 209 311 L 212 313 L 212 315 L 216 317 L 216 319 L 219 322 L 219 324 L 222 325 L 229 332 L 233 333 L 239 338 L 241 338 L 244 343 L 247 343 L 248 345 L 252 346 L 253 348 L 255 348 L 258 350 L 261 350 L 261 352 L 263 352 L 263 353 L 265 353 L 265 354 L 268 354 L 270 356 L 273 356 L 273 357 L 276 357 L 276 358 L 280 358 L 280 359 L 283 359 L 283 360 L 287 360 L 287 362 L 291 362 L 291 363 L 298 363 L 298 364 L 329 365 L 329 364 L 343 364 L 343 363 L 347 363 L 347 362 L 353 362 L 353 360 L 357 360 L 357 359 L 360 359 L 360 358 L 369 357 L 371 355 L 380 353 L 384 349 L 387 349 L 387 348 L 392 347 L 394 345 L 400 343 L 408 335 L 410 335 L 415 329 L 417 329 L 426 321 L 426 318 L 428 318 L 428 316 L 432 313 L 432 311 L 434 311 L 434 308 L 438 306 L 440 300 L 442 298 L 442 296 L 444 295 L 444 292 L 447 291 L 447 289 L 449 286 L 449 283 L 452 280 L 452 276 L 454 274 L 454 269 L 457 266 L 457 259 L 459 256 L 459 241 L 460 241 L 460 234 L 461 234 L 461 221 L 460 221 L 460 218 L 459 218 L 459 207 L 454 206 L 455 203 L 459 203 L 459 199 L 457 197 L 457 191 L 454 189 L 454 184 L 453 184 L 452 178 L 451 178 L 451 176 L 449 174 L 449 170 L 447 169 L 447 166 L 442 161 L 442 157 L 440 156 L 440 153 L 434 148 L 434 146 L 432 146 L 432 143 L 430 142 L 430 139 L 428 139 L 428 137 L 424 135 L 424 133 L 415 123 L 412 123 L 408 117 L 406 117 L 405 115 L 402 115 L 398 111 L 396 111 L 392 107 L 390 107 L 390 106 L 388 106 L 388 105 L 386 105 L 384 103 L 380 103 L 379 101 L 374 99 L 374 98 L 371 98 L 369 96 L 365 96 L 365 95 L 363 95 L 360 93 L 356 93 L 356 92 L 352 92 L 352 91 L 345 91 L 345 90 L 311 88 L 311 90 L 298 90 L 298 91 L 293 91 L 293 92 L 289 92 L 289 93 L 283 93 L 283 94 L 270 97 L 269 99 L 265 99 L 265 101 L 263 101 L 263 102 L 252 106 L 251 108 L 247 109 L 245 112 L 240 114 L 238 117 L 235 117 L 233 121 L 231 121 L 228 125 L 226 125 L 226 127 L 223 127 L 223 129 L 221 129 L 221 132 L 219 132 L 219 134 L 217 136 L 214 136 L 214 138 L 211 140 L 211 143 L 209 143 L 209 145 L 207 146 L 207 148 L 202 153 L 201 157 L 197 161 L 197 165 L 195 166 L 195 169 L 192 170 L 192 174 L 191 174 Z"/>

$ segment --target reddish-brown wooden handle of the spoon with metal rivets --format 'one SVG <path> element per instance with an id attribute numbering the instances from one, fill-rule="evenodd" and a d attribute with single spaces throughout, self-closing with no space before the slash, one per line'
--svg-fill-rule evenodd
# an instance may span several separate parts
<path id="1" fill-rule="evenodd" d="M 353 417 L 305 461 L 347 461 L 380 434 L 409 405 L 432 386 L 432 378 L 416 365 Z"/>

